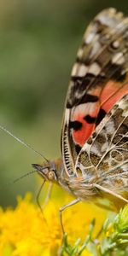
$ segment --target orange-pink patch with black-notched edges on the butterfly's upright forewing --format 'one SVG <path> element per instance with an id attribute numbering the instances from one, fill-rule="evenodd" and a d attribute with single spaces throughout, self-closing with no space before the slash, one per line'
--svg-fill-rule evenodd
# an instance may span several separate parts
<path id="1" fill-rule="evenodd" d="M 71 115 L 72 121 L 76 120 L 82 124 L 81 129 L 73 131 L 73 140 L 81 147 L 88 140 L 96 127 L 95 123 L 89 124 L 84 120 L 84 117 L 90 115 L 90 117 L 96 118 L 100 108 L 108 113 L 108 111 L 113 108 L 115 102 L 118 102 L 120 98 L 128 93 L 128 83 L 126 84 L 110 80 L 104 85 L 103 89 L 101 86 L 97 86 L 95 89 L 92 88 L 89 90 L 88 93 L 93 96 L 98 96 L 99 101 L 81 104 L 73 109 Z"/>

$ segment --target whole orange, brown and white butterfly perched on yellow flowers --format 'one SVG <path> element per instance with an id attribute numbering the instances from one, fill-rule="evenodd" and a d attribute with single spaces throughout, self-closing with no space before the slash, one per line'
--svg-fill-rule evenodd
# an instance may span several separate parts
<path id="1" fill-rule="evenodd" d="M 128 18 L 116 9 L 96 15 L 84 33 L 67 90 L 61 159 L 33 167 L 75 196 L 61 212 L 79 201 L 128 203 Z"/>

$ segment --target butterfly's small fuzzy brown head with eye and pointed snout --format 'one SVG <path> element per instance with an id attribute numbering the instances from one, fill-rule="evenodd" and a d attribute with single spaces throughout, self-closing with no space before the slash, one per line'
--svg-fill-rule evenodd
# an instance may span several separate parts
<path id="1" fill-rule="evenodd" d="M 57 166 L 55 161 L 46 161 L 44 164 L 32 164 L 32 167 L 37 170 L 38 174 L 44 178 L 45 181 L 57 182 Z"/>

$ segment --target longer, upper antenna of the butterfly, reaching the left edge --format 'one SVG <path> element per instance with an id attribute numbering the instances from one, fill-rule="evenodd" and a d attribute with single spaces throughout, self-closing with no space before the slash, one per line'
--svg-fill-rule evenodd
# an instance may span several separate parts
<path id="1" fill-rule="evenodd" d="M 7 128 L 3 127 L 3 125 L 0 125 L 0 129 L 6 133 L 8 133 L 11 137 L 14 137 L 15 140 L 19 143 L 21 143 L 22 145 L 24 145 L 26 148 L 31 149 L 35 154 L 38 154 L 39 156 L 41 156 L 42 158 L 44 158 L 44 160 L 46 160 L 49 163 L 49 160 L 47 160 L 43 154 L 39 153 L 37 150 L 35 150 L 34 148 L 32 148 L 29 144 L 26 144 L 25 142 L 23 142 L 19 137 L 16 137 L 11 131 L 9 131 Z"/>

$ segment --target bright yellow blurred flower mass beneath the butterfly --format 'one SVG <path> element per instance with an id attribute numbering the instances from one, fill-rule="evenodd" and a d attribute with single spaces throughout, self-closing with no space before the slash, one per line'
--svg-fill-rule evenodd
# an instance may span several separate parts
<path id="1" fill-rule="evenodd" d="M 59 194 L 58 194 L 59 195 Z M 17 207 L 6 211 L 0 209 L 0 255 L 1 256 L 49 256 L 57 255 L 61 246 L 61 225 L 59 208 L 62 202 L 73 198 L 67 196 L 49 200 L 44 214 L 37 204 L 32 202 L 32 195 L 25 199 L 18 198 Z M 84 241 L 90 222 L 96 218 L 94 233 L 100 230 L 107 217 L 107 211 L 94 205 L 79 203 L 63 212 L 63 225 L 69 242 L 78 237 Z M 82 255 L 90 255 L 87 250 Z"/>

